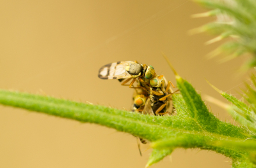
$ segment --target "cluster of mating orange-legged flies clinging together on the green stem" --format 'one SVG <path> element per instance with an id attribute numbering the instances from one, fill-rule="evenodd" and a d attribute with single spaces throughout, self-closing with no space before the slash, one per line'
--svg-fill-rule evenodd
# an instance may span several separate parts
<path id="1" fill-rule="evenodd" d="M 122 82 L 121 85 L 136 89 L 132 111 L 149 115 L 168 113 L 166 108 L 170 105 L 172 83 L 166 83 L 163 75 L 155 73 L 154 67 L 137 61 L 119 61 L 101 67 L 98 76 L 103 80 L 118 79 Z M 130 80 L 131 83 L 127 85 Z M 138 83 L 137 87 L 133 86 L 135 81 Z"/>

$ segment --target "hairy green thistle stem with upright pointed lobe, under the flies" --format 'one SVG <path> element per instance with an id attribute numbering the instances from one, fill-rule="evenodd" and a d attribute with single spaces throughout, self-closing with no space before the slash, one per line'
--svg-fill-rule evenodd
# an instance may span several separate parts
<path id="1" fill-rule="evenodd" d="M 232 158 L 233 167 L 253 167 L 253 153 L 256 148 L 248 149 L 245 146 L 254 144 L 254 128 L 248 129 L 246 126 L 237 127 L 231 123 L 221 122 L 209 112 L 200 95 L 188 81 L 177 73 L 176 80 L 180 94 L 173 95 L 173 104 L 177 110 L 177 115 L 174 116 L 140 115 L 99 105 L 8 90 L 0 90 L 0 103 L 79 122 L 97 123 L 148 139 L 152 142 L 154 150 L 147 167 L 170 155 L 175 148 L 212 150 Z M 241 109 L 241 117 L 251 114 L 246 111 L 249 108 L 242 102 L 234 97 L 228 99 Z"/>

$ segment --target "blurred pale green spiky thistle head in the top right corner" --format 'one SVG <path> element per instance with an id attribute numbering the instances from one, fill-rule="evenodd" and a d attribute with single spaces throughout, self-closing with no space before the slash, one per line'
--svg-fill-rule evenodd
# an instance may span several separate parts
<path id="1" fill-rule="evenodd" d="M 212 56 L 221 52 L 227 52 L 229 56 L 225 60 L 233 59 L 244 53 L 250 53 L 253 57 L 244 67 L 256 66 L 256 1 L 254 0 L 194 0 L 196 3 L 210 8 L 212 11 L 194 15 L 195 17 L 216 16 L 215 22 L 206 24 L 196 32 L 211 32 L 218 35 L 217 38 L 208 41 L 207 44 L 220 41 L 224 38 L 232 40 L 221 45 Z"/>

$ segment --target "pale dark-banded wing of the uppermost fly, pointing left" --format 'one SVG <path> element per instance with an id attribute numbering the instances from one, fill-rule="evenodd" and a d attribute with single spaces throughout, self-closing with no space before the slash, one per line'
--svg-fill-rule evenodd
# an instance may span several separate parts
<path id="1" fill-rule="evenodd" d="M 131 78 L 131 74 L 125 70 L 125 67 L 134 63 L 133 61 L 118 61 L 106 64 L 100 67 L 98 76 L 102 80 Z"/>

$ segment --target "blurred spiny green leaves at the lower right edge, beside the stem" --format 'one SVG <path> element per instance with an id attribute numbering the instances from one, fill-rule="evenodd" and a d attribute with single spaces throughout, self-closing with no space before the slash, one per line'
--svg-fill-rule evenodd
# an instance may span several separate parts
<path id="1" fill-rule="evenodd" d="M 232 102 L 231 106 L 227 106 L 230 115 L 241 124 L 241 127 L 248 130 L 247 139 L 241 141 L 239 139 L 219 139 L 214 143 L 216 146 L 227 146 L 228 148 L 246 151 L 246 157 L 244 163 L 237 165 L 237 167 L 248 167 L 249 163 L 256 164 L 256 80 L 255 76 L 251 77 L 252 85 L 246 83 L 246 90 L 244 92 L 244 99 L 248 102 L 239 101 L 236 97 L 229 95 L 218 88 L 214 87 L 220 94 L 228 101 Z M 213 87 L 213 86 L 212 86 Z"/>

